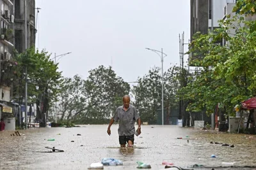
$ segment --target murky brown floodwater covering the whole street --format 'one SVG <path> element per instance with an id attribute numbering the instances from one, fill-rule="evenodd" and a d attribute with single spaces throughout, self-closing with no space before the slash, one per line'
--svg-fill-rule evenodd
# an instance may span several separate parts
<path id="1" fill-rule="evenodd" d="M 104 169 L 136 169 L 138 160 L 150 164 L 152 169 L 164 169 L 163 160 L 188 169 L 192 169 L 193 164 L 220 167 L 221 162 L 256 166 L 256 136 L 246 139 L 244 136 L 249 135 L 216 134 L 173 125 L 143 125 L 142 134 L 135 137 L 135 148 L 120 150 L 117 125 L 112 125 L 111 136 L 106 133 L 108 125 L 82 126 L 28 129 L 19 131 L 22 136 L 10 136 L 13 131 L 0 132 L 0 169 L 87 169 L 104 157 L 120 159 L 124 164 L 104 166 Z M 187 139 L 177 139 L 186 136 L 197 139 L 189 139 L 189 143 Z M 55 141 L 47 141 L 51 138 Z M 210 144 L 211 141 L 235 147 Z M 55 146 L 65 152 L 40 153 L 49 151 L 45 146 Z M 211 158 L 212 154 L 216 158 Z"/>

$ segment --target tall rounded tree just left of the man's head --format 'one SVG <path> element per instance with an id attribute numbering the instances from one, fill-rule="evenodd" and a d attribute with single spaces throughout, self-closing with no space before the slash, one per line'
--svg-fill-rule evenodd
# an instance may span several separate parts
<path id="1" fill-rule="evenodd" d="M 92 69 L 86 83 L 91 96 L 88 103 L 90 113 L 86 119 L 100 120 L 113 116 L 116 108 L 122 105 L 122 97 L 130 92 L 130 85 L 117 76 L 112 67 Z"/>

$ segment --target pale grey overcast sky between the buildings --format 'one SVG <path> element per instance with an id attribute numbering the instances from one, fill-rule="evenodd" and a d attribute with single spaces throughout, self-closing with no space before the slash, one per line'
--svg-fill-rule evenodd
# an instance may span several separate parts
<path id="1" fill-rule="evenodd" d="M 36 47 L 60 55 L 63 76 L 84 79 L 99 65 L 112 64 L 125 81 L 136 81 L 154 66 L 161 50 L 164 71 L 179 64 L 179 34 L 189 39 L 189 0 L 36 0 Z M 185 46 L 186 50 L 186 46 Z M 112 62 L 111 62 L 112 60 Z"/>

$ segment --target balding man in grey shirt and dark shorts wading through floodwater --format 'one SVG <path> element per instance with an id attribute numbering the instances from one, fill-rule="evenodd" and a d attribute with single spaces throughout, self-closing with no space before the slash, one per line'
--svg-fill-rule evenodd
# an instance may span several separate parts
<path id="1" fill-rule="evenodd" d="M 135 127 L 134 123 L 138 122 L 138 135 L 141 134 L 141 119 L 134 106 L 130 104 L 130 97 L 125 95 L 123 97 L 123 106 L 116 109 L 115 115 L 110 119 L 108 125 L 108 135 L 111 134 L 110 127 L 114 122 L 119 120 L 118 135 L 119 143 L 122 148 L 126 143 L 129 147 L 132 147 L 134 143 Z"/>

